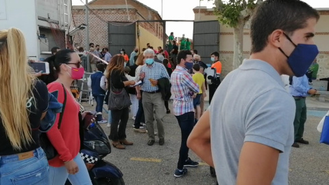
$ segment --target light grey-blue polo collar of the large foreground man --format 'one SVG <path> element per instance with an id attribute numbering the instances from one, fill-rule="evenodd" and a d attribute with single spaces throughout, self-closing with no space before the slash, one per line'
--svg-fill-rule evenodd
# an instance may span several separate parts
<path id="1" fill-rule="evenodd" d="M 257 59 L 245 59 L 243 60 L 241 66 L 239 66 L 239 69 L 241 70 L 260 70 L 264 71 L 265 73 L 269 74 L 273 79 L 280 84 L 280 86 L 284 87 L 284 83 L 282 82 L 282 79 L 280 77 L 280 74 L 276 69 L 273 68 L 269 63 L 263 61 L 263 60 L 257 60 Z"/>

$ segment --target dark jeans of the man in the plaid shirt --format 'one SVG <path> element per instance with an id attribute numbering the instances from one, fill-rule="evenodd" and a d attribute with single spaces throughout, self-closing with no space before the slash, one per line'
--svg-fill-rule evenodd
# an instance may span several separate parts
<path id="1" fill-rule="evenodd" d="M 180 131 L 182 132 L 182 143 L 180 145 L 180 158 L 178 160 L 177 168 L 182 170 L 184 167 L 185 161 L 188 159 L 188 147 L 187 147 L 187 138 L 191 134 L 194 122 L 194 112 L 186 112 L 180 116 L 176 116 L 178 120 L 178 125 L 180 125 Z"/>

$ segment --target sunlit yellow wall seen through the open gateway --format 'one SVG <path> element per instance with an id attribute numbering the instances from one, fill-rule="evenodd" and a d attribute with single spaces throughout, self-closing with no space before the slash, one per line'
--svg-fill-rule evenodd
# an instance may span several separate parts
<path id="1" fill-rule="evenodd" d="M 160 38 L 154 36 L 154 34 L 151 34 L 148 32 L 145 28 L 138 26 L 136 30 L 139 29 L 139 42 L 138 42 L 138 37 L 136 38 L 136 46 L 140 47 L 140 51 L 145 47 L 146 44 L 149 43 L 153 49 L 158 50 L 158 47 L 162 47 L 163 49 L 163 42 Z M 138 32 L 138 31 L 136 31 Z"/>

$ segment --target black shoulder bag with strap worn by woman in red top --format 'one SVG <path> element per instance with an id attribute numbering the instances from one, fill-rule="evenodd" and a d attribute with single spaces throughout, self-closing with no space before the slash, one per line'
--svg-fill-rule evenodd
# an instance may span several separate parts
<path id="1" fill-rule="evenodd" d="M 64 109 L 66 105 L 66 90 L 64 86 L 63 86 L 63 90 L 64 90 L 64 102 L 63 102 L 62 112 L 60 112 L 60 119 L 58 120 L 58 130 L 60 130 L 60 125 L 62 124 Z M 40 146 L 43 149 L 43 151 L 45 151 L 47 160 L 51 160 L 55 158 L 58 155 L 58 152 L 55 149 L 55 147 L 53 147 L 53 145 L 51 144 L 47 134 L 45 132 L 42 132 L 39 138 L 40 138 L 39 139 Z"/>

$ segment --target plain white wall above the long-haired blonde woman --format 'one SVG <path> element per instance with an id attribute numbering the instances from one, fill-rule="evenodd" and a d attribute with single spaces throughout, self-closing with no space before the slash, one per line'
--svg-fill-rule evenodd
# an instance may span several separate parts
<path id="1" fill-rule="evenodd" d="M 0 0 L 0 29 L 21 29 L 27 43 L 27 56 L 38 57 L 36 0 Z"/>

